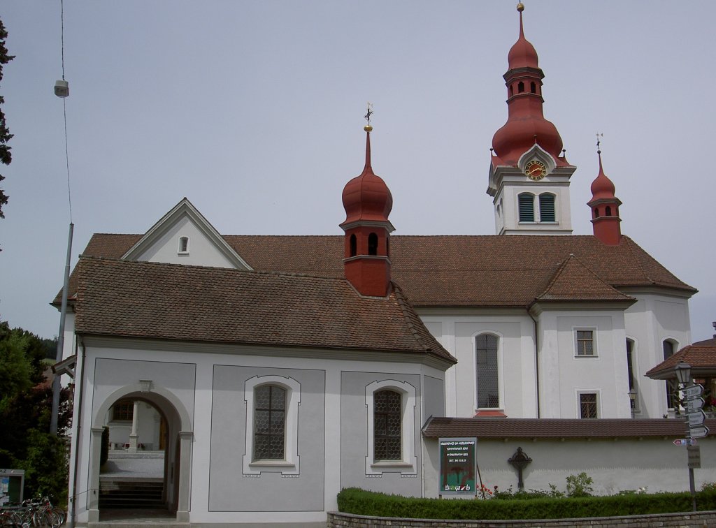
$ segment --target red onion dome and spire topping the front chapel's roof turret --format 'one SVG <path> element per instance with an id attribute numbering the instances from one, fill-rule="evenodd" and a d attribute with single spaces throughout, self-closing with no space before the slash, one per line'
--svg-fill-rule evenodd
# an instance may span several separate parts
<path id="1" fill-rule="evenodd" d="M 372 126 L 366 125 L 365 167 L 361 175 L 354 177 L 343 188 L 343 208 L 347 225 L 360 220 L 387 222 L 393 207 L 390 189 L 381 177 L 376 176 L 370 165 L 370 131 Z"/>

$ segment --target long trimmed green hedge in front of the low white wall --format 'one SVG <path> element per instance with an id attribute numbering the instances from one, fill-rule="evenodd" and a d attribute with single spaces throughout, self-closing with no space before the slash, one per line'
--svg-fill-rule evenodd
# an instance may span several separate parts
<path id="1" fill-rule="evenodd" d="M 699 492 L 700 510 L 716 509 L 716 492 Z M 659 493 L 579 499 L 419 499 L 347 488 L 338 494 L 339 512 L 406 519 L 569 519 L 691 511 L 691 494 Z"/>

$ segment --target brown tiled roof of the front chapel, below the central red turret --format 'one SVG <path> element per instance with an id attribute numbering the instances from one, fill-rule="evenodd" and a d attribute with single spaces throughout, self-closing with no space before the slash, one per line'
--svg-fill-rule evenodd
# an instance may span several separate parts
<path id="1" fill-rule="evenodd" d="M 428 353 L 455 362 L 396 288 L 347 280 L 81 258 L 78 333 L 262 346 Z"/>

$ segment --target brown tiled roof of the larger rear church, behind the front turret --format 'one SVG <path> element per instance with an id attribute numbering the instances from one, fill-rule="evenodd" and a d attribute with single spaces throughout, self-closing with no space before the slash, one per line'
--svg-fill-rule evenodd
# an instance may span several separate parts
<path id="1" fill-rule="evenodd" d="M 140 236 L 95 235 L 85 254 L 117 258 Z M 342 235 L 224 238 L 255 270 L 343 276 Z M 526 307 L 547 292 L 570 255 L 612 288 L 659 286 L 696 292 L 628 237 L 610 246 L 591 235 L 393 235 L 390 251 L 392 278 L 414 306 Z M 563 298 L 574 294 L 572 299 L 589 300 L 577 296 L 586 292 L 619 298 L 585 270 L 577 273 L 573 264 L 564 272 L 576 280 L 555 285 Z"/>

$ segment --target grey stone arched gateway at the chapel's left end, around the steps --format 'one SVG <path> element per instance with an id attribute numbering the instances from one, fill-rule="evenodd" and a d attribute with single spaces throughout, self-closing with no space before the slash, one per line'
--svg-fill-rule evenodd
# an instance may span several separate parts
<path id="1" fill-rule="evenodd" d="M 162 446 L 164 451 L 163 469 L 160 471 L 160 476 L 163 479 L 160 504 L 168 512 L 175 513 L 178 522 L 188 521 L 190 456 L 191 441 L 193 439 L 190 416 L 180 400 L 171 391 L 161 386 L 155 386 L 152 381 L 142 380 L 139 383 L 119 388 L 107 396 L 102 405 L 97 408 L 92 418 L 92 439 L 89 449 L 89 489 L 102 489 L 100 481 L 102 432 L 112 407 L 115 404 L 124 404 L 125 402 L 133 404 L 134 412 L 140 409 L 140 406 L 148 404 L 161 417 L 163 425 L 159 427 L 161 431 L 159 435 L 163 436 L 163 438 L 158 438 L 158 445 L 156 446 L 157 450 L 160 450 L 159 447 Z M 135 416 L 134 413 L 131 416 Z M 122 447 L 127 447 L 128 453 L 134 452 L 139 458 L 142 452 L 142 443 L 137 442 L 139 431 L 137 431 L 136 419 L 132 421 L 132 424 L 130 442 L 128 446 Z M 155 446 L 152 445 L 152 447 Z M 132 477 L 125 478 L 125 481 L 127 480 L 131 481 Z M 100 520 L 102 506 L 99 494 L 90 494 L 87 497 L 89 521 Z M 131 511 L 132 509 L 127 509 L 127 512 Z"/>

